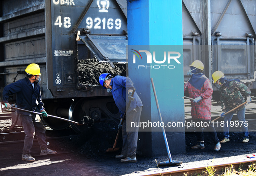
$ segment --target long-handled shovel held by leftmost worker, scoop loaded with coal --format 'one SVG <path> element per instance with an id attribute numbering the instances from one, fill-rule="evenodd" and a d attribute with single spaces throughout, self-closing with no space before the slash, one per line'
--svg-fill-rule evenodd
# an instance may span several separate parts
<path id="1" fill-rule="evenodd" d="M 21 109 L 21 108 L 18 108 L 18 107 L 11 107 L 12 109 L 15 109 L 15 110 L 21 110 L 21 111 L 24 111 L 24 112 L 28 112 L 28 113 L 33 113 L 33 114 L 38 114 L 38 115 L 42 115 L 42 113 L 39 113 L 39 112 L 35 112 L 35 111 L 30 111 L 30 110 L 24 110 L 24 109 Z M 3 108 L 3 110 L 6 110 L 6 108 Z M 91 119 L 90 117 L 88 116 L 84 116 L 81 120 L 79 120 L 79 122 L 75 122 L 75 121 L 72 121 L 72 120 L 69 120 L 69 119 L 64 119 L 64 118 L 61 118 L 61 117 L 58 117 L 58 116 L 52 116 L 52 115 L 48 115 L 49 117 L 53 117 L 53 118 L 56 118 L 56 119 L 60 119 L 60 120 L 64 120 L 64 121 L 67 121 L 67 122 L 70 122 L 70 123 L 74 123 L 76 125 L 85 125 L 85 124 L 88 124 L 88 125 L 92 125 L 93 122 L 94 122 L 94 119 Z"/>

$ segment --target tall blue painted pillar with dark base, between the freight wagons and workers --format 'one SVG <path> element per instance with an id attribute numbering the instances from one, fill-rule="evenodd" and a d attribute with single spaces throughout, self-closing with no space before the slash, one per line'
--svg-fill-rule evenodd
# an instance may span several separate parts
<path id="1" fill-rule="evenodd" d="M 128 74 L 144 105 L 141 121 L 159 121 L 152 77 L 165 125 L 184 123 L 182 0 L 127 0 L 127 25 Z M 171 154 L 184 153 L 184 128 L 165 130 Z M 168 156 L 161 127 L 139 132 L 137 152 Z"/>

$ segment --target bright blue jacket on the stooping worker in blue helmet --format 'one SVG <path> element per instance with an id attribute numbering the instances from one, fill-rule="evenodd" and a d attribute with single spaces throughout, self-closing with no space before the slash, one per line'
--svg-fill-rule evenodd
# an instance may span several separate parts
<path id="1" fill-rule="evenodd" d="M 110 86 L 112 86 L 112 95 L 117 105 L 120 117 L 123 117 L 123 114 L 126 110 L 126 98 L 128 97 L 128 90 L 133 90 L 133 82 L 130 78 L 124 76 L 115 76 L 111 79 Z M 131 110 L 135 109 L 136 107 L 142 107 L 143 104 L 139 98 L 139 95 L 134 92 L 133 97 L 135 98 L 134 101 L 131 101 L 130 107 L 128 108 L 126 113 L 129 113 Z"/>

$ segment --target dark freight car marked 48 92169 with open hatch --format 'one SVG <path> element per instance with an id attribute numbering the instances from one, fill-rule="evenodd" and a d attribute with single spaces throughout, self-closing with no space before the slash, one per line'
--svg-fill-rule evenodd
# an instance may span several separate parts
<path id="1" fill-rule="evenodd" d="M 1 87 L 37 63 L 49 114 L 119 121 L 111 94 L 97 80 L 103 72 L 126 74 L 126 0 L 3 0 L 0 9 Z M 52 129 L 84 128 L 54 118 L 45 123 Z"/>

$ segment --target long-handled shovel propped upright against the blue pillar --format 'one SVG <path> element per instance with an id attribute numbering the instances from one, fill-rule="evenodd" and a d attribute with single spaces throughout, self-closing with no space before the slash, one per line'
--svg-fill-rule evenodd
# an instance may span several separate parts
<path id="1" fill-rule="evenodd" d="M 155 85 L 154 85 L 154 82 L 153 82 L 153 78 L 151 78 L 151 83 L 152 83 L 152 88 L 153 88 L 155 99 L 156 99 L 156 107 L 157 107 L 159 119 L 160 119 L 160 122 L 163 123 L 162 116 L 161 116 L 160 109 L 159 109 L 158 100 L 157 100 L 157 97 L 156 97 L 156 89 L 155 89 Z M 182 161 L 172 160 L 171 152 L 170 152 L 168 141 L 167 141 L 166 134 L 165 134 L 165 128 L 163 126 L 162 126 L 162 131 L 163 131 L 163 135 L 164 135 L 164 139 L 165 139 L 165 145 L 166 145 L 167 153 L 168 153 L 168 156 L 169 156 L 169 160 L 160 162 L 157 165 L 158 166 L 173 166 L 173 165 L 181 164 Z"/>

